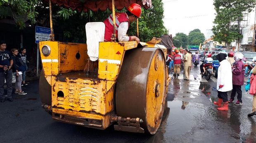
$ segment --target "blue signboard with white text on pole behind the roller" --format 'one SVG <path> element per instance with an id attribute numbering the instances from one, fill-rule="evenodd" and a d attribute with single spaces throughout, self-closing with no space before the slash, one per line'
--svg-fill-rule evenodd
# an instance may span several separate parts
<path id="1" fill-rule="evenodd" d="M 39 41 L 48 41 L 50 39 L 50 28 L 36 26 L 36 43 Z"/>

